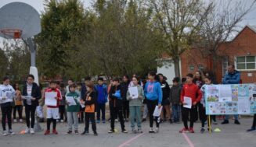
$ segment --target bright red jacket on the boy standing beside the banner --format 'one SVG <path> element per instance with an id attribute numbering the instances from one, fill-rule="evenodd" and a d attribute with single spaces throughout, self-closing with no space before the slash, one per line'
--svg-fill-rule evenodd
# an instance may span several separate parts
<path id="1" fill-rule="evenodd" d="M 180 96 L 181 102 L 184 102 L 184 96 L 190 97 L 192 99 L 192 103 L 197 102 L 199 103 L 202 99 L 201 90 L 198 86 L 194 83 L 192 84 L 185 84 L 182 88 L 182 93 Z"/>

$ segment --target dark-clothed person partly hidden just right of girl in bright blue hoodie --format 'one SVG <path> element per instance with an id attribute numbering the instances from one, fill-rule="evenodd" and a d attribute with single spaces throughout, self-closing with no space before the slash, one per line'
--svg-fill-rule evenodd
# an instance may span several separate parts
<path id="1" fill-rule="evenodd" d="M 164 121 L 164 111 L 166 112 L 165 117 L 167 118 L 167 120 L 170 121 L 170 123 L 172 123 L 171 120 L 171 110 L 170 110 L 170 100 L 169 100 L 169 96 L 170 96 L 170 87 L 168 82 L 166 82 L 166 80 L 164 80 L 164 75 L 163 74 L 158 74 L 159 79 L 160 79 L 160 86 L 163 92 L 163 100 L 162 100 L 162 106 L 164 108 L 164 110 L 162 110 L 160 118 L 161 121 Z"/>

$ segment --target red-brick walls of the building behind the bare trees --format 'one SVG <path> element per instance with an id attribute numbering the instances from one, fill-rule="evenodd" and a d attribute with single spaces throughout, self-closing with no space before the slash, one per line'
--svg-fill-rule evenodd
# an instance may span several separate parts
<path id="1" fill-rule="evenodd" d="M 248 54 L 256 56 L 256 33 L 246 26 L 232 41 L 220 44 L 218 54 L 222 57 L 226 56 L 229 64 L 233 65 L 236 65 L 236 56 L 247 56 Z M 194 73 L 202 67 L 215 71 L 217 81 L 222 81 L 223 58 L 216 61 L 216 68 L 213 69 L 211 57 L 205 56 L 198 49 L 192 49 L 182 54 L 181 63 L 182 77 L 185 77 L 187 73 Z M 256 82 L 256 70 L 240 72 L 243 83 Z"/>

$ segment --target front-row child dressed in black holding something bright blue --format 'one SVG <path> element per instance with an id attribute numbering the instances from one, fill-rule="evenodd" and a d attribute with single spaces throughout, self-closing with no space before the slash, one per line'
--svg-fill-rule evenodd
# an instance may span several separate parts
<path id="1" fill-rule="evenodd" d="M 119 121 L 121 124 L 121 130 L 123 133 L 127 133 L 124 127 L 124 117 L 122 111 L 123 101 L 121 100 L 121 86 L 119 83 L 119 79 L 115 78 L 113 80 L 113 85 L 110 88 L 110 120 L 111 120 L 111 129 L 109 133 L 114 133 L 114 120 L 118 115 Z"/>

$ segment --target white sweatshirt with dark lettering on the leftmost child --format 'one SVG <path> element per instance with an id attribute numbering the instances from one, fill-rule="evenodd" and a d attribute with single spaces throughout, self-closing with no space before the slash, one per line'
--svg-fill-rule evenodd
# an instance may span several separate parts
<path id="1" fill-rule="evenodd" d="M 15 90 L 10 85 L 0 85 L 0 104 L 1 107 L 12 106 L 13 97 L 15 96 Z M 5 97 L 5 100 L 3 100 Z"/>

